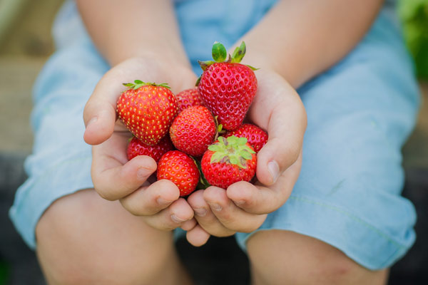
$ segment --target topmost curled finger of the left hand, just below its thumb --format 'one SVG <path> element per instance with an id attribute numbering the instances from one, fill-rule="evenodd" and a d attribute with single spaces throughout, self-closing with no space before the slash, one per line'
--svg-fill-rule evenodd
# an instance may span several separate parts
<path id="1" fill-rule="evenodd" d="M 91 176 L 96 191 L 104 199 L 116 200 L 131 194 L 156 171 L 156 162 L 151 157 L 141 155 L 128 161 L 126 144 L 126 137 L 115 133 L 93 147 Z"/>

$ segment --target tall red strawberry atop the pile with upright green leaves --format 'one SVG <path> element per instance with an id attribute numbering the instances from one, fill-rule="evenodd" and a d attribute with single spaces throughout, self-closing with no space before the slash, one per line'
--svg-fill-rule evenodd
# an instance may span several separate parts
<path id="1" fill-rule="evenodd" d="M 221 43 L 213 45 L 214 61 L 199 61 L 203 69 L 197 85 L 205 106 L 218 117 L 225 130 L 235 130 L 244 120 L 257 91 L 257 78 L 251 66 L 240 63 L 245 43 L 235 49 L 228 61 Z"/>

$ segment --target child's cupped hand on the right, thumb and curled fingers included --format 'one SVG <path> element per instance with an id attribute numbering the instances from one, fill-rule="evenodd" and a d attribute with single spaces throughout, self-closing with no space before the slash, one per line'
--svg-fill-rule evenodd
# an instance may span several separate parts
<path id="1" fill-rule="evenodd" d="M 305 108 L 295 90 L 279 75 L 256 71 L 258 93 L 250 120 L 267 130 L 269 140 L 258 152 L 258 183 L 237 182 L 227 190 L 208 187 L 188 198 L 198 221 L 188 231 L 190 244 L 206 241 L 207 232 L 225 237 L 253 232 L 290 196 L 299 176 L 306 129 Z"/>

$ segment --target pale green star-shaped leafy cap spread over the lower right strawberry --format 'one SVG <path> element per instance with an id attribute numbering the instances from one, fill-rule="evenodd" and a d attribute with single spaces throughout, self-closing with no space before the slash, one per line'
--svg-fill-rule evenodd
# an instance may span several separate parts
<path id="1" fill-rule="evenodd" d="M 220 162 L 247 168 L 248 160 L 252 159 L 255 151 L 247 144 L 247 138 L 232 135 L 228 138 L 218 137 L 218 140 L 208 147 L 213 155 L 210 163 Z"/>

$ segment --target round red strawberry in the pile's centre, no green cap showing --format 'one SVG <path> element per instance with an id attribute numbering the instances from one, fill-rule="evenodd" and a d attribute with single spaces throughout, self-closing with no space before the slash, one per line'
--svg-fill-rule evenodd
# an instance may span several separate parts
<path id="1" fill-rule="evenodd" d="M 170 138 L 178 150 L 192 156 L 203 155 L 215 138 L 214 117 L 204 106 L 189 107 L 173 121 Z"/>

